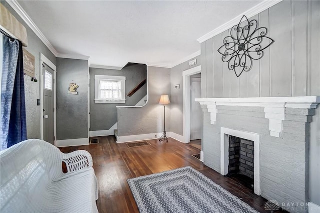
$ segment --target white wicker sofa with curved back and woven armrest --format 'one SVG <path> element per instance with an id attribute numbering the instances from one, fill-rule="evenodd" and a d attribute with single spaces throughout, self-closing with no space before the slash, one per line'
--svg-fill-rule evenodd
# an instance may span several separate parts
<path id="1" fill-rule="evenodd" d="M 62 172 L 62 161 L 67 173 Z M 0 212 L 98 212 L 91 155 L 68 154 L 43 140 L 0 152 Z"/>

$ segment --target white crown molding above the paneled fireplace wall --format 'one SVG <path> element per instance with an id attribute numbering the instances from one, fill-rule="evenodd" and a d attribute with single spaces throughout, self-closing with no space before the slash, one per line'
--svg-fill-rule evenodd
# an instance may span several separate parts
<path id="1" fill-rule="evenodd" d="M 272 6 L 278 4 L 279 2 L 281 2 L 282 0 L 264 0 L 263 2 L 261 2 L 260 4 L 250 8 L 249 10 L 245 11 L 244 13 L 234 17 L 233 19 L 231 19 L 230 21 L 224 23 L 223 25 L 215 28 L 214 30 L 212 30 L 211 32 L 201 36 L 200 38 L 198 38 L 196 41 L 198 41 L 199 43 L 202 43 L 220 33 L 222 33 L 225 30 L 228 30 L 230 28 L 232 28 L 234 25 L 239 23 L 239 20 L 242 18 L 243 15 L 245 15 L 248 19 L 261 13 L 262 11 L 271 8 Z"/>

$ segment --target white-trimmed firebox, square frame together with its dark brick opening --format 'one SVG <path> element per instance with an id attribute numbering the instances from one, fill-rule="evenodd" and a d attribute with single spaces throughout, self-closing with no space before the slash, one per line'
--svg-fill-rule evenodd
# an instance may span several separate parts
<path id="1" fill-rule="evenodd" d="M 260 135 L 220 128 L 220 173 L 233 176 L 260 195 Z"/>

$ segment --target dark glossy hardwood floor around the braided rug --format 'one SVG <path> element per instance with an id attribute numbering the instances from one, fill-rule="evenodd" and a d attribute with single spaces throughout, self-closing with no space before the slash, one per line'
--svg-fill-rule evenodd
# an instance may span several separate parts
<path id="1" fill-rule="evenodd" d="M 167 143 L 148 140 L 151 144 L 149 146 L 128 148 L 124 143 L 117 144 L 113 136 L 97 138 L 98 144 L 62 147 L 60 150 L 68 153 L 84 149 L 92 155 L 99 190 L 99 199 L 96 204 L 100 213 L 139 212 L 126 179 L 183 166 L 192 166 L 257 211 L 270 212 L 264 209 L 266 202 L 264 198 L 192 157 L 191 154 L 197 154 L 199 150 L 191 145 L 169 138 Z"/>

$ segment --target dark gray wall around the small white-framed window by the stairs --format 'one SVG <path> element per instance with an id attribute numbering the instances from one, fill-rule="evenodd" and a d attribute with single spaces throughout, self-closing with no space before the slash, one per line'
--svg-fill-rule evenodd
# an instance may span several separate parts
<path id="1" fill-rule="evenodd" d="M 117 122 L 115 106 L 134 106 L 146 95 L 144 84 L 131 97 L 125 97 L 125 104 L 94 103 L 94 75 L 125 76 L 125 95 L 146 78 L 146 65 L 128 64 L 122 70 L 89 68 L 90 73 L 90 131 L 108 130 Z"/>

